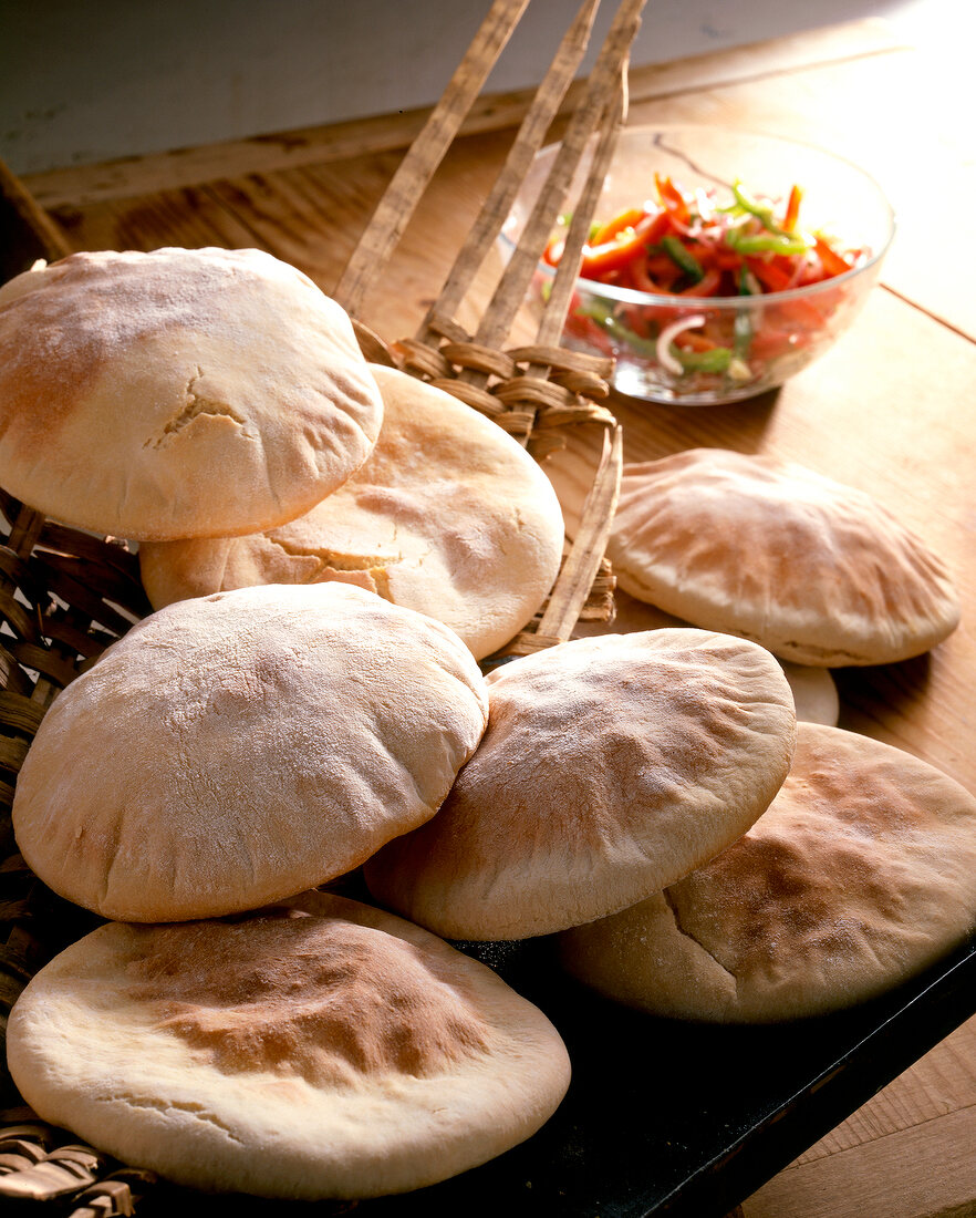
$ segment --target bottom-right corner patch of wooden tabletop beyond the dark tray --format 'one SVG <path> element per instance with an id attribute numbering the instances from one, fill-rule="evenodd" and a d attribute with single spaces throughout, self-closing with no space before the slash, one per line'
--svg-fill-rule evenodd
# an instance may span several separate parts
<path id="1" fill-rule="evenodd" d="M 744 1218 L 971 1218 L 976 1019 L 741 1206 Z"/>

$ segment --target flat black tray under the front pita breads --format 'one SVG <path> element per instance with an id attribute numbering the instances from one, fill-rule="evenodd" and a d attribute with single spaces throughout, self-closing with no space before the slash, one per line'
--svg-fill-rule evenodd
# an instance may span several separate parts
<path id="1" fill-rule="evenodd" d="M 394 1197 L 318 1205 L 235 1197 L 239 1216 L 722 1218 L 976 1012 L 976 939 L 882 999 L 772 1027 L 658 1019 L 560 976 L 546 940 L 459 944 L 562 1033 L 573 1082 L 506 1155 Z M 214 1200 L 162 1185 L 139 1213 L 195 1218 Z"/>

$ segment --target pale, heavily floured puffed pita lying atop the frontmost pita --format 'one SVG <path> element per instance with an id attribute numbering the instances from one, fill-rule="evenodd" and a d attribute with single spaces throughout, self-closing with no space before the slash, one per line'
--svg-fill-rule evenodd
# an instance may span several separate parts
<path id="1" fill-rule="evenodd" d="M 41 879 L 105 917 L 254 909 L 432 816 L 486 719 L 456 635 L 361 588 L 183 600 L 58 694 L 13 828 Z"/>

